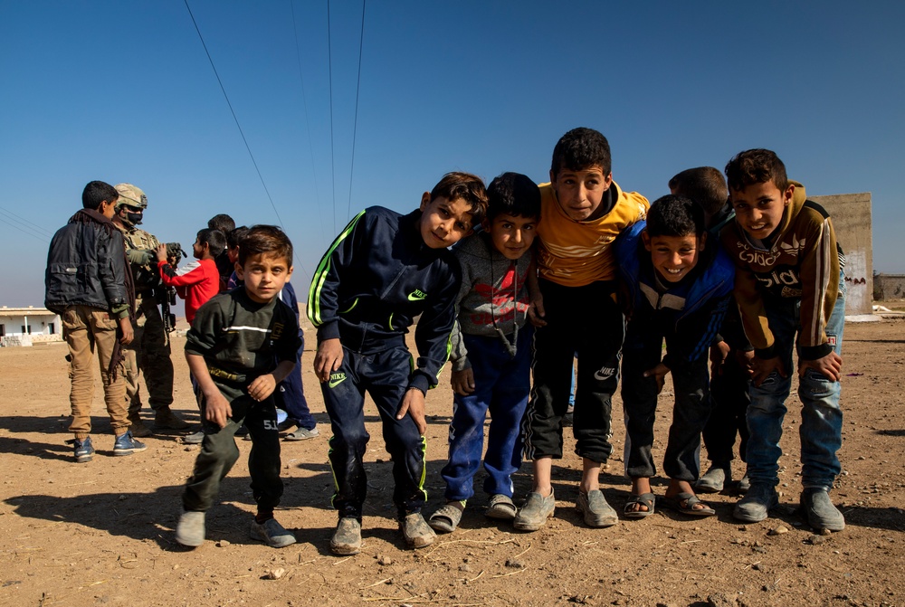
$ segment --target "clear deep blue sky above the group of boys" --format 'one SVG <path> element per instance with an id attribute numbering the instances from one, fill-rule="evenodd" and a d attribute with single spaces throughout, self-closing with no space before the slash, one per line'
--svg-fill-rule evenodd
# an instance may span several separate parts
<path id="1" fill-rule="evenodd" d="M 3 305 L 43 303 L 92 179 L 143 188 L 143 227 L 189 251 L 215 213 L 281 223 L 303 291 L 350 214 L 450 170 L 546 181 L 579 126 L 651 200 L 749 147 L 809 194 L 871 192 L 874 270 L 905 272 L 902 3 L 371 0 L 360 83 L 360 3 L 329 28 L 326 0 L 189 6 L 261 177 L 183 0 L 0 0 Z"/>

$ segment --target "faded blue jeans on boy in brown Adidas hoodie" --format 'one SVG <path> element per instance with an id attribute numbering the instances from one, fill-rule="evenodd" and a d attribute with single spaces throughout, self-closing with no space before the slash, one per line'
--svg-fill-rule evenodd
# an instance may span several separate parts
<path id="1" fill-rule="evenodd" d="M 826 336 L 839 354 L 843 346 L 845 323 L 845 288 L 840 277 L 840 294 L 825 327 Z M 776 372 L 767 376 L 759 386 L 751 384 L 751 404 L 748 407 L 748 477 L 752 483 L 779 483 L 779 439 L 783 435 L 786 398 L 792 385 L 795 367 L 792 365 L 792 346 L 799 325 L 800 301 L 789 300 L 767 305 L 767 322 L 776 338 L 776 353 L 787 377 Z M 839 382 L 827 379 L 814 369 L 807 369 L 800 378 L 798 397 L 802 403 L 801 437 L 802 486 L 829 491 L 842 467 L 836 451 L 842 446 L 843 412 L 839 407 Z"/>

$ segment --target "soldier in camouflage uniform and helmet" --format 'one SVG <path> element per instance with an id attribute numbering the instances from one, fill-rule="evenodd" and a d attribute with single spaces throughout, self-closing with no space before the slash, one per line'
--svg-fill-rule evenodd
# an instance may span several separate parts
<path id="1" fill-rule="evenodd" d="M 135 339 L 126 353 L 126 400 L 131 431 L 135 436 L 148 436 L 151 433 L 139 415 L 141 397 L 138 394 L 138 374 L 141 370 L 145 372 L 148 404 L 155 413 L 155 427 L 185 430 L 188 423 L 170 410 L 170 404 L 173 403 L 173 361 L 170 360 L 165 319 L 157 307 L 161 299 L 167 298 L 166 289 L 160 284 L 157 274 L 155 249 L 160 242 L 137 227 L 148 208 L 148 197 L 135 185 L 119 184 L 115 187 L 119 192 L 119 200 L 113 223 L 119 227 L 126 241 L 126 256 L 135 277 L 136 291 L 136 320 L 133 326 Z M 166 316 L 168 322 L 168 310 Z"/>

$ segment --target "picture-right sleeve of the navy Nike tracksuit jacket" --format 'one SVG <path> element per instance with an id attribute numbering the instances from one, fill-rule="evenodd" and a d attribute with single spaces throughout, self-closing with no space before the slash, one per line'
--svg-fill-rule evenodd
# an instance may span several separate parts
<path id="1" fill-rule="evenodd" d="M 443 256 L 446 276 L 435 281 L 434 293 L 428 293 L 427 306 L 414 330 L 414 343 L 418 347 L 418 360 L 414 373 L 409 377 L 410 388 L 426 393 L 438 383 L 440 370 L 450 356 L 450 335 L 456 320 L 456 297 L 462 285 L 462 270 L 452 255 Z"/>

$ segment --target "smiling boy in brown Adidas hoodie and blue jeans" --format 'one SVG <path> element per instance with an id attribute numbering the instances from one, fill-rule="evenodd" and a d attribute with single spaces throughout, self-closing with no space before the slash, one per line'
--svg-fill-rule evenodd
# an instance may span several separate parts
<path id="1" fill-rule="evenodd" d="M 720 238 L 738 267 L 736 299 L 754 346 L 748 407 L 751 488 L 733 516 L 757 522 L 779 497 L 779 440 L 791 390 L 792 351 L 798 354 L 802 403 L 800 507 L 811 526 L 841 531 L 843 514 L 829 491 L 842 470 L 839 406 L 845 292 L 842 251 L 830 216 L 807 200 L 805 187 L 767 149 L 741 152 L 726 166 L 736 213 Z"/>

